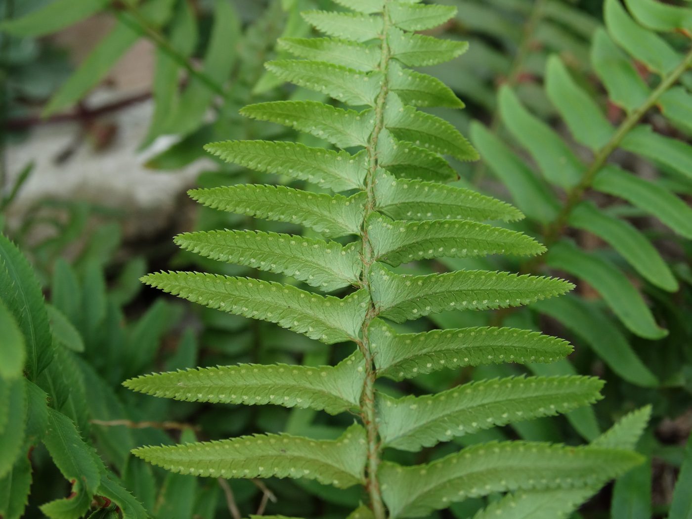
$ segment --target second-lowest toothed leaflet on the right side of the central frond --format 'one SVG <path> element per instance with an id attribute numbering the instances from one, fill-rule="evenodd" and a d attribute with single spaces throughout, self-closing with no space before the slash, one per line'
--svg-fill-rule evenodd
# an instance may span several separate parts
<path id="1" fill-rule="evenodd" d="M 510 377 L 471 382 L 434 395 L 378 394 L 385 446 L 421 450 L 478 430 L 554 416 L 601 399 L 603 381 L 585 376 Z"/>

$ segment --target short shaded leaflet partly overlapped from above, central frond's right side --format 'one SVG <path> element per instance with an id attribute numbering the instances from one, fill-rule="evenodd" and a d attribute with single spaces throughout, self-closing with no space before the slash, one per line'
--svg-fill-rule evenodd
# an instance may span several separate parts
<path id="1" fill-rule="evenodd" d="M 377 140 L 377 155 L 380 165 L 397 178 L 433 182 L 459 178 L 444 158 L 413 143 L 395 139 L 387 129 L 382 130 Z"/>

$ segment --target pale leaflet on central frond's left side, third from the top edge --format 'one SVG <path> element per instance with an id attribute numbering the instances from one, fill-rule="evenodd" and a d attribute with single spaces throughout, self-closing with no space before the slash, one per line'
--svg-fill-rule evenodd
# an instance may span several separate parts
<path id="1" fill-rule="evenodd" d="M 378 46 L 356 44 L 345 39 L 280 38 L 277 45 L 307 60 L 334 63 L 363 72 L 374 71 L 380 64 Z"/>

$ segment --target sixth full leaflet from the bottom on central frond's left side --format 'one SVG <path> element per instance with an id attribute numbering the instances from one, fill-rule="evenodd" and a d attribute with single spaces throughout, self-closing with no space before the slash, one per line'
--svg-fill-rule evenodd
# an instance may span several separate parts
<path id="1" fill-rule="evenodd" d="M 208 144 L 204 149 L 226 162 L 307 180 L 334 191 L 362 189 L 367 174 L 365 152 L 351 155 L 300 143 L 268 140 L 227 140 Z"/>

